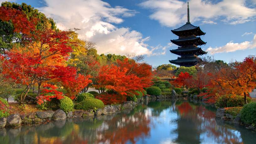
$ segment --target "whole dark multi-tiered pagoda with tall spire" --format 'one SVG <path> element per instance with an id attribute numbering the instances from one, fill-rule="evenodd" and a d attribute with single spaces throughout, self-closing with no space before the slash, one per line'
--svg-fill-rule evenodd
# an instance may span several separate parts
<path id="1" fill-rule="evenodd" d="M 203 51 L 198 45 L 204 45 L 206 42 L 201 40 L 200 35 L 205 33 L 189 22 L 189 2 L 188 2 L 188 22 L 178 29 L 172 30 L 173 34 L 178 35 L 179 39 L 171 40 L 173 44 L 179 45 L 178 49 L 170 50 L 172 53 L 179 55 L 178 59 L 170 60 L 170 63 L 191 67 L 195 66 L 199 61 L 197 56 L 204 55 L 207 52 Z M 199 37 L 197 37 L 199 36 Z"/>

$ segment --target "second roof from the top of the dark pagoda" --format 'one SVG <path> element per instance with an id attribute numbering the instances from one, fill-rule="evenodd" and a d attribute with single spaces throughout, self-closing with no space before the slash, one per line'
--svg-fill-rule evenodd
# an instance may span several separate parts
<path id="1" fill-rule="evenodd" d="M 206 42 L 204 42 L 203 40 L 201 40 L 200 37 L 196 37 L 196 36 L 191 36 L 191 37 L 185 37 L 185 38 L 179 38 L 176 40 L 171 40 L 172 43 L 179 45 L 179 46 L 183 46 L 184 43 L 190 42 L 192 41 L 194 45 L 205 45 Z"/>

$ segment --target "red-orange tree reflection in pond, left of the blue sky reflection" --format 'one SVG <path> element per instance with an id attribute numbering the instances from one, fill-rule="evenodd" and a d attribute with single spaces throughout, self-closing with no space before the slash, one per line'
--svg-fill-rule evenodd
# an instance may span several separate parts
<path id="1" fill-rule="evenodd" d="M 136 143 L 136 138 L 148 136 L 150 120 L 142 113 L 136 113 L 133 116 L 123 116 L 118 121 L 112 119 L 109 121 L 109 129 L 102 132 L 99 142 L 126 143 L 131 141 Z"/>

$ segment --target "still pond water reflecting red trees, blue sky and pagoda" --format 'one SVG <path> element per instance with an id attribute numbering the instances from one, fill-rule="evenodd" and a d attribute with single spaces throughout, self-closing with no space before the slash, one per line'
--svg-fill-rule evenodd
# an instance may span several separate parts
<path id="1" fill-rule="evenodd" d="M 187 101 L 149 102 L 113 115 L 6 128 L 0 130 L 0 143 L 256 143 L 255 132 L 215 119 L 214 111 Z"/>

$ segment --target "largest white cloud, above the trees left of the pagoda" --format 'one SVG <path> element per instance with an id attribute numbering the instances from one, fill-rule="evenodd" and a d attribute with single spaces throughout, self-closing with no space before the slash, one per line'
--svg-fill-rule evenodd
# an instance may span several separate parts
<path id="1" fill-rule="evenodd" d="M 138 31 L 118 28 L 122 17 L 134 16 L 135 10 L 120 6 L 111 7 L 101 0 L 45 0 L 46 6 L 39 8 L 52 17 L 59 29 L 78 28 L 79 38 L 96 42 L 98 53 L 125 55 L 152 55 L 154 52 Z"/>

